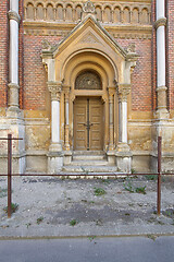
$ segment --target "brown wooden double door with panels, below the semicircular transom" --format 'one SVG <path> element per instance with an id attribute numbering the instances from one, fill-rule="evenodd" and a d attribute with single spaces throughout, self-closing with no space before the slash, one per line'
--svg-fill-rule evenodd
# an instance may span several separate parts
<path id="1" fill-rule="evenodd" d="M 74 150 L 103 150 L 101 97 L 77 97 L 74 102 Z"/>

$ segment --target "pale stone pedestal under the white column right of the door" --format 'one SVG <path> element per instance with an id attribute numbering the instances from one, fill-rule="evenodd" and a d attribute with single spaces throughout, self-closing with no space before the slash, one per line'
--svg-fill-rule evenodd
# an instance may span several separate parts
<path id="1" fill-rule="evenodd" d="M 133 154 L 126 143 L 119 143 L 115 157 L 119 170 L 130 174 Z"/>

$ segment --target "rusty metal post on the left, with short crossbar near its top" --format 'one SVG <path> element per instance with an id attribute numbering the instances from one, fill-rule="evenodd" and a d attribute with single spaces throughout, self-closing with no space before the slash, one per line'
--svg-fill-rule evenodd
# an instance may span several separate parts
<path id="1" fill-rule="evenodd" d="M 12 206 L 12 134 L 8 134 L 8 217 Z"/>

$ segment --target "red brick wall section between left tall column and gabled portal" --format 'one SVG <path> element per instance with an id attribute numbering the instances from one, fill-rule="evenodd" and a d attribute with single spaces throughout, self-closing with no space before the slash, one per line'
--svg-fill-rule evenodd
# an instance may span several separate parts
<path id="1" fill-rule="evenodd" d="M 52 45 L 60 40 L 53 36 L 24 35 L 24 109 L 46 109 L 46 71 L 41 60 L 41 41 Z"/>

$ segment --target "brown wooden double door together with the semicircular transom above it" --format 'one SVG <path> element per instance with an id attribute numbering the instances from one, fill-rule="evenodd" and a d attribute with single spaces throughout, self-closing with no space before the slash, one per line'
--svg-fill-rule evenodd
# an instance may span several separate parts
<path id="1" fill-rule="evenodd" d="M 75 90 L 102 90 L 95 71 L 84 71 L 76 78 Z M 76 96 L 74 102 L 74 150 L 103 150 L 103 105 L 101 96 Z"/>

